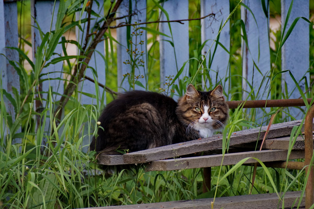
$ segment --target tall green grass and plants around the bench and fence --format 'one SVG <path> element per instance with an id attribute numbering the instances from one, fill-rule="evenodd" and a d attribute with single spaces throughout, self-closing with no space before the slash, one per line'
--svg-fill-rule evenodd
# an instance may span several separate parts
<path id="1" fill-rule="evenodd" d="M 77 1 L 71 5 L 77 4 L 73 10 L 65 11 L 59 16 L 60 21 L 72 22 L 75 11 L 81 11 L 78 8 Z M 239 1 L 230 1 L 230 13 L 235 12 L 230 17 L 230 69 L 232 75 L 229 82 L 229 100 L 241 100 L 241 27 L 236 24 L 240 19 L 240 8 L 236 8 Z M 280 11 L 280 1 L 272 1 L 271 15 L 273 11 Z M 105 4 L 110 5 L 109 1 Z M 84 208 L 92 206 L 109 206 L 122 204 L 151 203 L 161 201 L 188 200 L 208 197 L 222 197 L 234 195 L 247 195 L 252 188 L 252 167 L 241 166 L 244 161 L 234 166 L 220 166 L 212 168 L 212 187 L 211 190 L 203 193 L 203 170 L 188 169 L 179 171 L 162 171 L 162 172 L 145 172 L 139 169 L 134 174 L 127 170 L 106 178 L 98 170 L 94 162 L 95 157 L 86 153 L 88 143 L 97 129 L 95 121 L 99 116 L 100 110 L 105 106 L 102 104 L 101 97 L 95 97 L 97 105 L 80 104 L 79 89 L 77 89 L 69 102 L 64 108 L 61 121 L 56 121 L 54 115 L 57 102 L 54 98 L 56 92 L 49 89 L 45 98 L 45 107 L 41 112 L 34 110 L 34 103 L 38 100 L 34 88 L 40 82 L 41 69 L 47 63 L 51 63 L 49 55 L 54 51 L 59 33 L 62 35 L 66 25 L 60 25 L 54 33 L 47 33 L 43 36 L 41 48 L 38 50 L 36 62 L 32 63 L 26 57 L 28 52 L 24 51 L 23 44 L 27 44 L 29 34 L 27 24 L 29 19 L 26 18 L 29 4 L 24 1 L 19 3 L 19 14 L 21 17 L 21 26 L 19 28 L 21 35 L 21 45 L 19 47 L 20 61 L 11 62 L 19 73 L 20 77 L 20 94 L 17 91 L 10 95 L 0 88 L 0 208 Z M 86 5 L 86 2 L 85 2 Z M 156 2 L 148 1 L 148 21 L 155 21 L 159 18 L 160 8 Z M 200 16 L 200 2 L 190 1 L 189 17 L 197 18 Z M 311 11 L 313 10 L 311 6 Z M 105 7 L 105 10 L 108 8 Z M 29 18 L 29 16 L 28 16 Z M 300 20 L 301 21 L 301 20 Z M 303 21 L 303 20 L 302 20 Z M 23 24 L 24 23 L 24 24 Z M 158 23 L 147 25 L 148 28 L 158 30 Z M 177 86 L 180 94 L 184 93 L 184 88 L 193 78 L 194 84 L 201 90 L 201 79 L 203 76 L 202 68 L 207 68 L 206 63 L 202 62 L 201 56 L 202 43 L 200 41 L 200 21 L 190 22 L 190 59 L 189 77 L 180 80 L 181 85 Z M 69 28 L 73 30 L 73 28 Z M 153 31 L 151 30 L 151 31 Z M 289 30 L 286 28 L 286 30 Z M 26 32 L 25 32 L 26 31 Z M 115 40 L 111 33 L 105 34 L 108 39 L 105 40 L 106 54 L 106 85 L 113 90 L 117 90 L 116 82 L 116 52 Z M 284 37 L 279 30 L 273 32 L 275 40 L 275 49 L 271 50 L 272 77 L 268 99 L 281 99 L 281 66 L 280 66 L 280 47 L 283 44 Z M 311 28 L 310 34 L 313 33 Z M 151 91 L 159 91 L 159 84 L 155 82 L 155 77 L 159 76 L 159 42 L 158 34 L 148 32 L 148 80 L 147 85 Z M 175 37 L 174 37 L 175 38 Z M 312 39 L 311 39 L 312 40 Z M 62 43 L 61 43 L 62 44 Z M 311 42 L 310 50 L 313 50 Z M 179 55 L 177 55 L 179 56 Z M 75 63 L 70 58 L 61 58 L 64 61 L 64 73 L 70 74 Z M 311 58 L 312 59 L 312 58 Z M 56 60 L 54 60 L 56 61 Z M 30 63 L 31 70 L 27 69 L 25 63 Z M 70 64 L 69 64 L 70 63 Z M 53 62 L 51 63 L 53 64 Z M 72 66 L 72 67 L 71 67 Z M 179 66 L 181 68 L 182 66 Z M 199 70 L 199 67 L 200 70 Z M 312 74 L 312 62 L 308 70 Z M 289 73 L 289 72 L 285 72 Z M 0 77 L 1 78 L 1 77 Z M 62 78 L 63 79 L 63 78 Z M 64 79 L 65 80 L 65 79 Z M 215 80 L 213 78 L 213 80 Z M 1 80 L 0 80 L 1 81 Z M 295 85 L 297 86 L 297 81 Z M 2 82 L 0 83 L 2 86 Z M 212 82 L 209 89 L 215 87 L 216 82 Z M 311 88 L 306 86 L 306 90 Z M 95 89 L 101 91 L 95 84 Z M 84 90 L 83 90 L 84 91 Z M 97 92 L 96 91 L 96 92 Z M 258 95 L 249 95 L 250 99 Z M 302 95 L 302 92 L 300 92 Z M 28 95 L 28 96 L 27 96 Z M 303 97 L 313 97 L 313 91 L 310 89 Z M 113 97 L 107 93 L 107 102 Z M 8 99 L 14 103 L 15 114 L 7 113 L 5 100 Z M 309 107 L 309 105 L 307 105 Z M 272 108 L 277 111 L 278 108 Z M 282 112 L 287 112 L 284 108 Z M 271 114 L 264 113 L 264 121 L 268 122 Z M 281 117 L 281 112 L 275 118 L 274 123 L 280 123 L 290 120 L 289 114 Z M 245 129 L 248 127 L 257 127 L 259 124 L 252 118 L 255 118 L 256 111 L 244 111 L 240 107 L 230 110 L 230 123 L 223 130 L 224 143 L 223 152 L 228 152 L 228 136 L 230 133 Z M 279 117 L 280 116 L 280 117 Z M 37 123 L 37 121 L 39 121 Z M 87 127 L 87 128 L 86 128 Z M 21 129 L 19 129 L 21 128 Z M 298 135 L 301 135 L 300 127 L 295 127 L 291 135 L 291 144 Z M 14 139 L 21 139 L 21 143 L 12 143 Z M 291 150 L 289 150 L 290 152 Z M 300 161 L 300 160 L 299 160 Z M 123 175 L 122 175 L 123 174 Z M 307 177 L 303 171 L 289 169 L 273 169 L 259 167 L 255 178 L 252 194 L 261 194 L 268 192 L 286 192 L 294 190 L 304 190 Z M 284 194 L 284 193 L 283 193 Z M 282 194 L 281 194 L 282 195 Z M 279 206 L 281 208 L 281 206 Z"/>

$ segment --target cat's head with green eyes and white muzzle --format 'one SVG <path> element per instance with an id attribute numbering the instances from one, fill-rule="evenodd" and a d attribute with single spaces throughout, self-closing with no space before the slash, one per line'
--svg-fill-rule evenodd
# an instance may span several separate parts
<path id="1" fill-rule="evenodd" d="M 194 129 L 202 138 L 212 136 L 215 130 L 223 128 L 228 112 L 221 85 L 209 92 L 197 91 L 192 84 L 188 85 L 176 109 L 181 122 L 188 126 L 187 131 Z"/>

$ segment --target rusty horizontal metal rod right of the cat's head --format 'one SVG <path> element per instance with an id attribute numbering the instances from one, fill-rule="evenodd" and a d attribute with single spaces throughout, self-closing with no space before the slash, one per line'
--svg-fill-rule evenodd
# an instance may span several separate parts
<path id="1" fill-rule="evenodd" d="M 312 99 L 307 99 L 310 103 Z M 267 104 L 266 104 L 267 101 Z M 269 100 L 247 100 L 247 101 L 227 101 L 230 109 L 237 108 L 245 102 L 243 108 L 255 107 L 298 107 L 305 106 L 303 99 L 269 99 Z"/>

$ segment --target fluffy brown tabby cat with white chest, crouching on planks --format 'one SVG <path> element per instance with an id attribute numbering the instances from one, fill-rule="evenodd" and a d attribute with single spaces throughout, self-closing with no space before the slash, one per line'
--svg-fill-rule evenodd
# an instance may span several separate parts
<path id="1" fill-rule="evenodd" d="M 129 91 L 103 110 L 98 121 L 104 130 L 98 129 L 89 150 L 112 155 L 120 154 L 118 149 L 134 152 L 209 137 L 226 124 L 228 110 L 221 85 L 203 92 L 190 84 L 178 102 L 155 92 Z M 103 166 L 109 173 L 113 168 Z"/>

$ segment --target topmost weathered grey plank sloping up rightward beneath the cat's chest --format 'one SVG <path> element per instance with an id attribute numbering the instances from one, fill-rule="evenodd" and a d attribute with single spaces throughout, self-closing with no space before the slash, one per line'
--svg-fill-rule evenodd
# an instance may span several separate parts
<path id="1" fill-rule="evenodd" d="M 280 124 L 273 124 L 268 132 L 267 138 L 275 138 L 285 135 L 290 135 L 293 126 L 301 124 L 302 120 L 291 121 Z M 266 130 L 267 126 L 262 127 L 262 132 L 260 134 L 259 140 L 263 139 L 263 130 Z M 304 129 L 304 125 L 303 128 Z M 253 142 L 257 140 L 259 135 L 259 128 L 248 129 L 238 131 L 232 134 L 230 137 L 230 146 Z M 183 143 L 156 147 L 149 150 L 142 150 L 138 152 L 132 152 L 124 154 L 123 162 L 124 164 L 135 164 L 151 162 L 154 160 L 161 160 L 165 158 L 172 158 L 187 154 L 192 154 L 195 152 L 215 150 L 222 147 L 222 135 L 215 135 L 201 140 L 192 140 Z M 116 162 L 116 160 L 111 160 L 111 158 L 116 158 L 117 156 L 106 156 L 106 161 L 99 161 L 100 164 L 108 165 L 110 162 Z M 102 158 L 104 159 L 104 158 Z M 119 164 L 122 164 L 121 162 Z"/>

